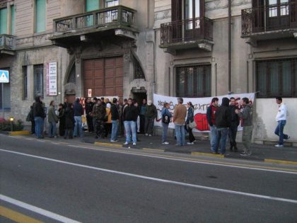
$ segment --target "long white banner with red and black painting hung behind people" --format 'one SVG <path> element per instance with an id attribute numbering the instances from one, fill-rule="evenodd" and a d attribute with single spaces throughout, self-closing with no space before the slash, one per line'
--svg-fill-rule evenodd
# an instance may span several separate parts
<path id="1" fill-rule="evenodd" d="M 241 98 L 249 98 L 250 103 L 254 103 L 255 100 L 255 93 L 235 93 L 235 94 L 228 94 L 225 96 L 216 96 L 219 98 L 219 105 L 221 105 L 222 98 L 235 98 L 236 103 L 239 108 L 242 108 L 242 101 Z M 197 123 L 196 129 L 193 132 L 209 132 L 209 125 L 206 119 L 206 109 L 209 107 L 211 103 L 211 99 L 214 97 L 209 98 L 183 98 L 184 105 L 187 105 L 187 102 L 192 102 L 194 105 L 194 120 Z M 162 96 L 158 94 L 153 94 L 153 103 L 156 105 L 158 110 L 158 118 L 157 122 L 155 122 L 155 126 L 162 126 L 162 115 L 161 110 L 163 108 L 164 103 L 167 102 L 170 104 L 169 111 L 170 113 L 174 112 L 174 108 L 177 105 L 177 97 L 169 97 L 169 96 Z M 174 129 L 175 126 L 173 122 L 169 123 L 169 127 Z M 238 126 L 238 130 L 242 130 L 241 125 Z"/>

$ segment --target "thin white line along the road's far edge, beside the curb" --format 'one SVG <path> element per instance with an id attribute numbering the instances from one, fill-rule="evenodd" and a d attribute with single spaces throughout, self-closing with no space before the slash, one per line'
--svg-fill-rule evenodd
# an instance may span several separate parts
<path id="1" fill-rule="evenodd" d="M 214 163 L 213 161 L 194 161 L 194 160 L 188 160 L 188 159 L 180 159 L 180 158 L 172 158 L 172 157 L 165 157 L 162 155 L 148 155 L 148 154 L 139 154 L 140 151 L 133 152 L 131 150 L 126 150 L 126 151 L 119 151 L 119 150 L 111 150 L 111 149 L 103 149 L 103 148 L 92 148 L 92 147 L 83 147 L 83 146 L 74 146 L 74 145 L 67 145 L 68 147 L 78 147 L 82 149 L 91 149 L 91 150 L 100 150 L 100 151 L 108 151 L 108 152 L 113 152 L 113 153 L 119 153 L 119 154 L 129 154 L 129 155 L 134 155 L 134 156 L 144 156 L 144 157 L 151 157 L 151 158 L 156 158 L 156 159 L 168 159 L 168 160 L 173 160 L 173 161 L 182 161 L 182 162 L 187 162 L 187 163 L 194 163 L 194 164 L 206 164 L 206 165 L 212 165 L 212 166 L 226 166 L 226 167 L 231 167 L 231 168 L 245 168 L 245 169 L 250 169 L 250 170 L 256 170 L 256 171 L 269 171 L 269 172 L 276 172 L 276 173 L 289 173 L 289 174 L 296 174 L 297 172 L 293 171 L 281 171 L 281 170 L 276 170 L 276 169 L 269 169 L 265 166 L 263 168 L 257 168 L 257 167 L 250 167 L 250 166 L 238 166 L 240 164 L 218 164 Z"/>

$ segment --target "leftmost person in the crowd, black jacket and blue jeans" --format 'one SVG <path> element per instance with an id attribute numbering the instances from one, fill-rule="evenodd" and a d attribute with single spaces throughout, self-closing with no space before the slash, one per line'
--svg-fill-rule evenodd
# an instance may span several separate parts
<path id="1" fill-rule="evenodd" d="M 42 106 L 40 96 L 35 97 L 35 103 L 33 103 L 33 117 L 35 121 L 35 134 L 38 139 L 43 139 L 42 130 L 45 118 L 45 109 Z"/>

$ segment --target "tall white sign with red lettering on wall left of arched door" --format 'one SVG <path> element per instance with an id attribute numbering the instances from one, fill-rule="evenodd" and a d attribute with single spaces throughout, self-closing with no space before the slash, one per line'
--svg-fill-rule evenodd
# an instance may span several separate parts
<path id="1" fill-rule="evenodd" d="M 57 96 L 57 62 L 47 64 L 47 96 Z"/>

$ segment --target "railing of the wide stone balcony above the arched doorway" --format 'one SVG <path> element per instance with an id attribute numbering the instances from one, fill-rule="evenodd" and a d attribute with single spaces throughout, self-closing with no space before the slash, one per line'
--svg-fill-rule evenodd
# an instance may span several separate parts
<path id="1" fill-rule="evenodd" d="M 125 6 L 114 6 L 74 16 L 54 19 L 54 31 L 66 32 L 82 28 L 99 28 L 106 25 L 134 25 L 135 12 Z"/>

